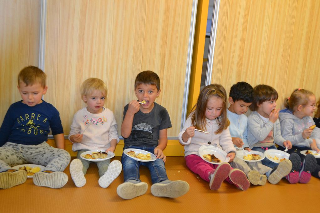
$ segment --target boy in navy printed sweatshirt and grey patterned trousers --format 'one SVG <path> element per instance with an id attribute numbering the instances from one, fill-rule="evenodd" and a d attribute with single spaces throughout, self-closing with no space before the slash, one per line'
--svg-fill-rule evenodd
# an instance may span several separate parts
<path id="1" fill-rule="evenodd" d="M 64 150 L 58 110 L 41 99 L 48 88 L 45 80 L 46 74 L 35 66 L 25 67 L 18 75 L 22 100 L 10 106 L 0 128 L 0 188 L 24 183 L 27 172 L 12 166 L 26 163 L 45 166 L 33 176 L 37 186 L 61 188 L 68 182 L 63 171 L 70 154 Z M 46 143 L 50 128 L 57 148 Z"/>

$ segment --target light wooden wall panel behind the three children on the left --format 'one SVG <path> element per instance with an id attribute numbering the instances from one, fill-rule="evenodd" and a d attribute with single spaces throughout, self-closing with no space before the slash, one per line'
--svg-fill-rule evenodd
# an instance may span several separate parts
<path id="1" fill-rule="evenodd" d="M 186 77 L 191 0 L 48 0 L 45 100 L 60 111 L 67 135 L 74 113 L 84 107 L 81 83 L 89 77 L 108 86 L 106 106 L 120 126 L 123 107 L 134 95 L 135 76 L 156 72 L 156 100 L 170 114 L 168 136 L 180 132 Z"/>

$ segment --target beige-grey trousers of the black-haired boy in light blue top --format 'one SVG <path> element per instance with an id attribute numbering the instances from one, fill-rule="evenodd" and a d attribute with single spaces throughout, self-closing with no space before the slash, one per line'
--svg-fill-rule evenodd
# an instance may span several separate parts
<path id="1" fill-rule="evenodd" d="M 270 167 L 261 164 L 261 161 L 245 162 L 238 157 L 235 157 L 230 165 L 232 168 L 240 169 L 245 174 L 248 174 L 249 171 L 258 171 L 260 174 L 264 175 L 266 172 L 271 170 Z"/>

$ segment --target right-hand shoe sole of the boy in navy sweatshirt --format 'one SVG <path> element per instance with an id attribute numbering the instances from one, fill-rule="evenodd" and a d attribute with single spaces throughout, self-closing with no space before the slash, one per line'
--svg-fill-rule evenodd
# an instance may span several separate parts
<path id="1" fill-rule="evenodd" d="M 66 185 L 67 182 L 68 175 L 61 171 L 56 171 L 52 173 L 37 172 L 33 176 L 33 183 L 36 186 L 45 186 L 58 189 Z"/>

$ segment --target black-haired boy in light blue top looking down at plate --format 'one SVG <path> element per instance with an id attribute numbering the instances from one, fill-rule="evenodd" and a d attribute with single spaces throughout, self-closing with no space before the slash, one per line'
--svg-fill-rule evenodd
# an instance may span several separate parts
<path id="1" fill-rule="evenodd" d="M 229 129 L 232 142 L 237 150 L 241 150 L 241 148 L 244 147 L 245 150 L 251 151 L 247 141 L 248 118 L 244 113 L 247 112 L 253 101 L 252 86 L 246 82 L 234 84 L 230 89 L 228 101 L 230 106 L 227 110 L 227 116 L 230 120 Z M 244 171 L 250 183 L 253 185 L 263 186 L 266 184 L 267 176 L 270 183 L 277 184 L 285 175 L 287 175 L 285 172 L 281 171 L 283 168 L 286 169 L 286 166 L 289 165 L 286 161 L 289 160 L 280 162 L 279 166 L 274 171 L 272 171 L 270 167 L 261 164 L 260 161 L 245 162 L 238 157 L 236 157 L 230 165 L 233 168 Z"/>

